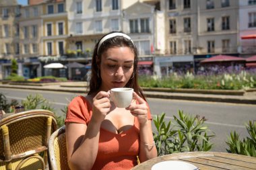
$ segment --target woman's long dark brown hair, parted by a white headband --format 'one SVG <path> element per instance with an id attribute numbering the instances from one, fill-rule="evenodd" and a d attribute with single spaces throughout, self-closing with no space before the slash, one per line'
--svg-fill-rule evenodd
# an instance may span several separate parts
<path id="1" fill-rule="evenodd" d="M 114 32 L 110 32 L 108 34 L 113 34 Z M 123 33 L 123 32 L 121 32 Z M 106 35 L 108 35 L 106 34 Z M 104 35 L 104 36 L 106 36 Z M 102 38 L 104 38 L 104 36 Z M 100 38 L 100 40 L 102 40 Z M 131 40 L 128 40 L 127 38 L 124 38 L 123 36 L 115 36 L 113 38 L 108 38 L 102 44 L 100 45 L 100 48 L 98 49 L 98 44 L 100 40 L 97 42 L 96 46 L 94 47 L 94 53 L 92 55 L 92 74 L 90 77 L 90 84 L 89 84 L 89 92 L 88 95 L 92 95 L 93 93 L 98 92 L 98 89 L 100 89 L 102 79 L 100 77 L 100 62 L 101 62 L 101 56 L 108 48 L 113 47 L 121 47 L 121 46 L 127 46 L 131 49 L 131 51 L 134 53 L 134 63 L 133 63 L 133 75 L 131 75 L 129 81 L 125 85 L 125 87 L 133 88 L 134 91 L 143 99 L 146 100 L 146 97 L 143 95 L 143 91 L 141 87 L 139 87 L 139 83 L 137 80 L 137 48 L 133 44 Z M 98 57 L 98 58 L 97 58 Z"/>

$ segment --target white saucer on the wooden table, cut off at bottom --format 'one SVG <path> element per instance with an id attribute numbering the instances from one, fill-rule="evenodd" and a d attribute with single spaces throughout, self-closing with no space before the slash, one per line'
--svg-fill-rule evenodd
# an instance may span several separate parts
<path id="1" fill-rule="evenodd" d="M 197 170 L 195 165 L 183 161 L 164 161 L 153 165 L 151 170 Z"/>

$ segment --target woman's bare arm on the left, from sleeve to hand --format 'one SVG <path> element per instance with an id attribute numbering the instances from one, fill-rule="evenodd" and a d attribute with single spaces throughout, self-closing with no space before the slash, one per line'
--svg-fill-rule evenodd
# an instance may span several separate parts
<path id="1" fill-rule="evenodd" d="M 100 91 L 92 101 L 92 118 L 86 124 L 66 124 L 67 161 L 72 170 L 92 169 L 98 153 L 100 125 L 110 111 L 109 93 Z"/>

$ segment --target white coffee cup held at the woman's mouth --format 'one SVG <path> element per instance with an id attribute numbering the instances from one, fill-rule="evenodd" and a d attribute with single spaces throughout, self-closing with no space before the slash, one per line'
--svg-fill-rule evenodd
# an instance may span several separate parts
<path id="1" fill-rule="evenodd" d="M 110 89 L 110 100 L 115 103 L 117 108 L 127 108 L 133 99 L 132 88 L 114 88 Z"/>

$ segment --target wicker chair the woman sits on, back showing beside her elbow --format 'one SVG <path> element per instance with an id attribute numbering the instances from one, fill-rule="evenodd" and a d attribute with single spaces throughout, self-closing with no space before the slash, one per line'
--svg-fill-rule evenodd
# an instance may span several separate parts
<path id="1" fill-rule="evenodd" d="M 70 170 L 67 164 L 65 126 L 62 126 L 51 135 L 49 157 L 52 170 Z"/>

